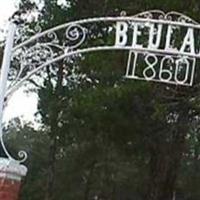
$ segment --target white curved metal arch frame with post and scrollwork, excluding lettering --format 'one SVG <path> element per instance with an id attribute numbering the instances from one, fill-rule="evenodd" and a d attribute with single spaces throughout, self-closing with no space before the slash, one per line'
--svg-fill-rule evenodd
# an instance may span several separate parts
<path id="1" fill-rule="evenodd" d="M 30 32 L 31 34 L 33 34 L 33 36 L 30 38 L 25 37 L 24 41 L 22 34 L 27 31 L 27 28 L 19 28 L 16 30 L 16 34 L 19 37 L 15 38 L 15 43 L 17 43 L 18 41 L 20 41 L 20 43 L 15 44 L 15 47 L 12 47 L 15 33 L 15 25 L 11 23 L 11 28 L 9 31 L 5 48 L 4 62 L 2 65 L 0 82 L 0 141 L 9 159 L 15 160 L 7 151 L 3 141 L 2 115 L 5 100 L 7 100 L 26 80 L 28 80 L 32 75 L 36 74 L 42 68 L 49 66 L 62 59 L 65 59 L 66 57 L 70 57 L 77 54 L 83 54 L 86 52 L 105 50 L 131 50 L 139 53 L 148 52 L 156 55 L 168 54 L 172 56 L 177 56 L 178 53 L 172 50 L 166 51 L 150 48 L 133 48 L 131 46 L 120 47 L 115 45 L 96 45 L 91 47 L 84 46 L 84 42 L 86 41 L 87 33 L 89 31 L 87 28 L 88 24 L 91 25 L 92 23 L 114 23 L 119 21 L 125 21 L 130 23 L 157 23 L 200 29 L 200 25 L 196 21 L 192 20 L 191 18 L 185 15 L 182 15 L 181 13 L 169 12 L 166 14 L 159 10 L 152 10 L 139 13 L 131 17 L 100 17 L 78 20 L 59 25 L 44 32 L 41 32 L 41 29 L 37 27 L 36 32 L 39 33 L 36 34 L 35 31 L 31 30 Z M 64 38 L 62 38 L 62 40 L 64 39 L 65 42 L 59 40 L 59 36 L 57 33 L 63 32 L 63 29 Z M 192 53 L 181 53 L 181 56 L 200 58 L 200 54 Z M 18 69 L 15 69 L 15 71 L 17 72 L 12 72 L 12 74 L 14 74 L 14 78 L 10 82 L 10 85 L 7 87 L 6 83 L 7 78 L 9 76 L 10 63 L 11 60 L 15 59 L 17 60 L 20 66 Z M 19 152 L 19 157 L 22 158 L 22 160 L 19 160 L 18 162 L 24 162 L 27 159 L 27 154 L 21 151 Z"/>

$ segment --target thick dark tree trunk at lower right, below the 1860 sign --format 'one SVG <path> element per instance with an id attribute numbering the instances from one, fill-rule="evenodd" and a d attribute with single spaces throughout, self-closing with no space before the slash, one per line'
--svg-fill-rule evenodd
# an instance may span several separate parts
<path id="1" fill-rule="evenodd" d="M 151 148 L 150 175 L 145 200 L 172 200 L 178 169 L 185 147 L 187 114 L 181 113 L 170 142 L 154 144 Z M 169 133 L 171 134 L 171 133 Z"/>

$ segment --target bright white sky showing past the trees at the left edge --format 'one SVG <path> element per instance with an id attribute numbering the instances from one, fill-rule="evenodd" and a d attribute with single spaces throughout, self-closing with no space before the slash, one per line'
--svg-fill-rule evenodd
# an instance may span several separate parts
<path id="1" fill-rule="evenodd" d="M 0 29 L 6 29 L 9 17 L 16 10 L 15 3 L 16 0 L 0 0 Z M 7 122 L 15 117 L 34 121 L 34 113 L 37 110 L 37 95 L 25 94 L 23 91 L 24 88 L 20 88 L 10 99 L 4 112 L 4 121 Z"/>

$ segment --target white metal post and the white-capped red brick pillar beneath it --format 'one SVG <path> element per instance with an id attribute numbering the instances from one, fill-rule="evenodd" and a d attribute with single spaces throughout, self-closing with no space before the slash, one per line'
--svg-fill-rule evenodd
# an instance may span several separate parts
<path id="1" fill-rule="evenodd" d="M 0 199 L 4 200 L 18 199 L 21 180 L 27 174 L 27 168 L 12 158 L 3 141 L 2 119 L 6 102 L 7 79 L 12 58 L 15 30 L 16 25 L 10 22 L 0 75 L 0 142 L 1 149 L 7 157 L 0 157 Z"/>

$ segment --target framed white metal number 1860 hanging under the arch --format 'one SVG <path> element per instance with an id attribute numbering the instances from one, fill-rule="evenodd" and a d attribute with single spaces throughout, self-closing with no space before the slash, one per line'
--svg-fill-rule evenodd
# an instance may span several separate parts
<path id="1" fill-rule="evenodd" d="M 130 52 L 126 78 L 192 85 L 196 60 L 194 58 L 161 56 Z"/>

